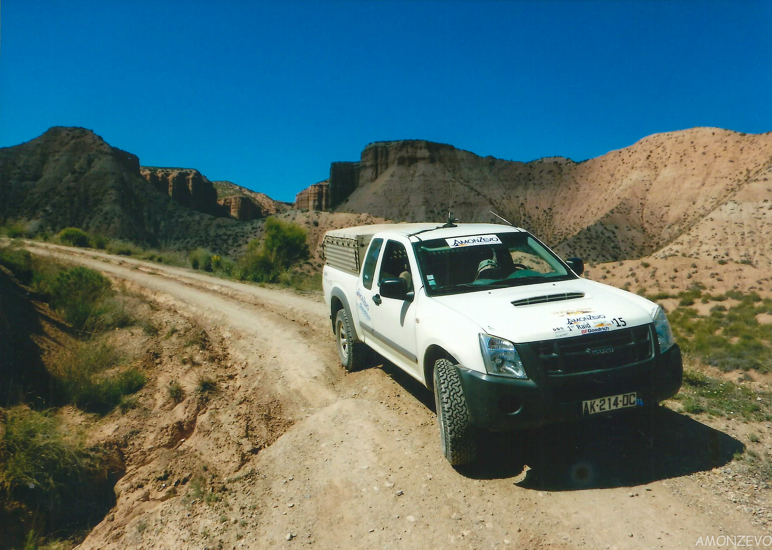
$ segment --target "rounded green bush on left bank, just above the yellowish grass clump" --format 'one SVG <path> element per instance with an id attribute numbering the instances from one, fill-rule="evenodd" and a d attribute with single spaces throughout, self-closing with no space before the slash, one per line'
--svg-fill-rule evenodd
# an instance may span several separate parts
<path id="1" fill-rule="evenodd" d="M 100 302 L 111 292 L 110 279 L 93 269 L 76 266 L 60 272 L 53 280 L 51 306 L 63 312 L 65 319 L 76 329 L 83 330 L 94 317 Z"/>

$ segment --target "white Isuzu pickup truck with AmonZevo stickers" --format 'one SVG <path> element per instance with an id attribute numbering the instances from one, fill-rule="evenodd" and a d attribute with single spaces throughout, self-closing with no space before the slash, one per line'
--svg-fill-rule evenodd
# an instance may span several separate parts
<path id="1" fill-rule="evenodd" d="M 323 254 L 340 363 L 367 346 L 432 390 L 451 464 L 476 460 L 479 430 L 651 410 L 681 386 L 662 308 L 523 229 L 368 225 L 327 231 Z"/>

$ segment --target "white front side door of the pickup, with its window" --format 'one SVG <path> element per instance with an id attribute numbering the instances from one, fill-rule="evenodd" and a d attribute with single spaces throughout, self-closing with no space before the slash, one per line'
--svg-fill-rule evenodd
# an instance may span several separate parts
<path id="1" fill-rule="evenodd" d="M 412 274 L 415 269 L 410 265 L 405 245 L 389 240 L 384 246 L 381 262 L 378 265 L 376 284 L 368 291 L 372 325 L 365 338 L 381 355 L 418 376 L 418 357 L 415 342 L 415 305 L 409 300 L 384 298 L 379 287 L 384 279 L 402 278 L 408 285 L 408 292 L 413 290 Z"/>

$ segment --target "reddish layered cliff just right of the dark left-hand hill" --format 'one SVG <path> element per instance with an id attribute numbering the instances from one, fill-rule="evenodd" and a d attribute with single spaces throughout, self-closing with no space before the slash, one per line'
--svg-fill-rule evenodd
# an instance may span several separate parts
<path id="1" fill-rule="evenodd" d="M 141 167 L 140 174 L 157 191 L 168 194 L 182 206 L 204 214 L 222 215 L 217 191 L 204 174 L 193 168 Z"/>

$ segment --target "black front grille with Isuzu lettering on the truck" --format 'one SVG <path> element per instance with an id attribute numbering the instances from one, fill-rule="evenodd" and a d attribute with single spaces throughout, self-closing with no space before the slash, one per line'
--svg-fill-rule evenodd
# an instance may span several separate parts
<path id="1" fill-rule="evenodd" d="M 654 355 L 652 331 L 648 325 L 530 345 L 543 368 L 554 376 L 613 369 L 645 361 Z"/>

